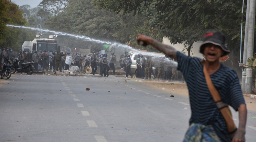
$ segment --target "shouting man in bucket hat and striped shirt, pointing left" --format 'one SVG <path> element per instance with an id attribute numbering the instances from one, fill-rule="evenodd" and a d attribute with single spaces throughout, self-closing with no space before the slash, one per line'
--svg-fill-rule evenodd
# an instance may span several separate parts
<path id="1" fill-rule="evenodd" d="M 200 52 L 205 55 L 205 65 L 200 58 L 188 57 L 150 37 L 138 34 L 137 42 L 143 46 L 152 45 L 159 51 L 178 61 L 178 69 L 182 71 L 188 85 L 191 118 L 190 127 L 185 134 L 187 141 L 220 141 L 244 142 L 247 109 L 236 72 L 222 65 L 218 59 L 227 55 L 230 50 L 225 46 L 225 36 L 219 31 L 207 32 Z M 220 93 L 222 101 L 239 112 L 239 126 L 233 138 L 229 137 L 223 115 L 207 86 L 203 73 L 206 67 L 212 83 Z"/>

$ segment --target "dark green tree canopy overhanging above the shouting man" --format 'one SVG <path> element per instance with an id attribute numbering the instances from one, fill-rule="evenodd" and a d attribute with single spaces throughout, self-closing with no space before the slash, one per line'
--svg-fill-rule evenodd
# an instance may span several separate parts
<path id="1" fill-rule="evenodd" d="M 142 13 L 150 27 L 158 29 L 158 36 L 169 37 L 173 44 L 190 45 L 202 40 L 204 32 L 218 30 L 226 35 L 230 49 L 240 42 L 241 18 L 245 16 L 242 1 L 237 0 L 138 0 L 136 4 L 133 0 L 94 0 L 94 4 L 117 13 Z"/>

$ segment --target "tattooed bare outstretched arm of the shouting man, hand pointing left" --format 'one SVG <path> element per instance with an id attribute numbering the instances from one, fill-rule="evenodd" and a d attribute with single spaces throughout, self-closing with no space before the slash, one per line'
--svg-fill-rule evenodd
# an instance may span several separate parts
<path id="1" fill-rule="evenodd" d="M 145 36 L 145 35 L 138 34 L 138 36 L 139 37 L 136 39 L 138 44 L 141 44 L 141 42 L 142 42 L 143 46 L 152 45 L 154 48 L 163 52 L 167 56 L 173 58 L 174 60 L 177 60 L 177 58 L 176 58 L 177 50 L 174 47 L 162 44 L 162 43 L 158 42 L 157 40 L 150 38 L 148 36 Z"/>

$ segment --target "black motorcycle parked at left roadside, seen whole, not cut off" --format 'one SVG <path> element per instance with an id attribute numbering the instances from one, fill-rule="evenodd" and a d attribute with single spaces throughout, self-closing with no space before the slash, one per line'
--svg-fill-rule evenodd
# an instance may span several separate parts
<path id="1" fill-rule="evenodd" d="M 21 73 L 25 72 L 26 74 L 32 74 L 33 69 L 35 69 L 33 66 L 33 63 L 35 63 L 35 62 L 21 63 L 22 66 L 20 67 L 19 66 L 19 58 L 15 58 L 12 66 L 11 66 L 12 73 L 15 73 L 17 71 L 17 72 L 21 72 Z"/>

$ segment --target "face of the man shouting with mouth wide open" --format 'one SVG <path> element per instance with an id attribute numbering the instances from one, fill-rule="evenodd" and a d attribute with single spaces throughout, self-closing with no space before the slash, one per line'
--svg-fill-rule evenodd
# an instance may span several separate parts
<path id="1" fill-rule="evenodd" d="M 215 62 L 224 54 L 224 50 L 215 44 L 207 43 L 204 45 L 204 55 L 207 61 Z"/>

